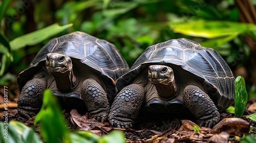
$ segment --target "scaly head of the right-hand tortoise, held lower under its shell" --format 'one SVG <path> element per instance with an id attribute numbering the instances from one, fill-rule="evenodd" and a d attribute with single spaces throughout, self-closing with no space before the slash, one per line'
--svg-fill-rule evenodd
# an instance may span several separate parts
<path id="1" fill-rule="evenodd" d="M 148 67 L 148 81 L 152 84 L 168 85 L 174 81 L 173 69 L 165 65 L 151 65 Z"/>

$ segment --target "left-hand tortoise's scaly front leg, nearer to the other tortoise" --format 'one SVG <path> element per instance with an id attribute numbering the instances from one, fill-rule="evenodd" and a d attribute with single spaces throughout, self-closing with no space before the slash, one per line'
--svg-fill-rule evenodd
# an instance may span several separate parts
<path id="1" fill-rule="evenodd" d="M 110 104 L 104 89 L 94 79 L 89 78 L 83 81 L 81 93 L 89 115 L 103 123 L 110 112 Z"/>

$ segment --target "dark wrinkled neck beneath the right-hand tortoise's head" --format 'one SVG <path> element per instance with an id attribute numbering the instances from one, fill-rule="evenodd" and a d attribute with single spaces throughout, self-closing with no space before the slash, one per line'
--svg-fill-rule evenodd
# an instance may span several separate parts
<path id="1" fill-rule="evenodd" d="M 154 85 L 161 99 L 169 100 L 177 96 L 178 87 L 175 83 L 175 79 L 167 84 L 158 83 Z"/>

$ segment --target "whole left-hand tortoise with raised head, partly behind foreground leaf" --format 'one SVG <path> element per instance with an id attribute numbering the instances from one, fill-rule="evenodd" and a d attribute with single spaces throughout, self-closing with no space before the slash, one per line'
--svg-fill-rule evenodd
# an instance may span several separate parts
<path id="1" fill-rule="evenodd" d="M 50 89 L 63 105 L 84 108 L 104 122 L 117 93 L 115 80 L 128 70 L 116 46 L 106 40 L 83 32 L 54 38 L 16 78 L 18 113 L 36 115 L 44 90 Z"/>

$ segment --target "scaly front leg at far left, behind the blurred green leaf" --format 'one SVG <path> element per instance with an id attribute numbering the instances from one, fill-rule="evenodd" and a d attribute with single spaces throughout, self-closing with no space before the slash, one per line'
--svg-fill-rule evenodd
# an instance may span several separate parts
<path id="1" fill-rule="evenodd" d="M 35 116 L 42 106 L 42 94 L 46 88 L 43 79 L 28 81 L 18 97 L 18 113 L 28 119 Z"/>

